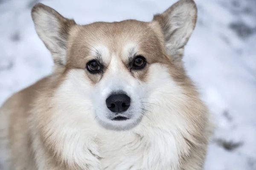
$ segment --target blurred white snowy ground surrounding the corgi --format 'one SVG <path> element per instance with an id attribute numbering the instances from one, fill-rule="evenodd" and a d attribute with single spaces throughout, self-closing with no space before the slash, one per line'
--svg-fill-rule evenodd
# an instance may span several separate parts
<path id="1" fill-rule="evenodd" d="M 0 105 L 49 74 L 52 59 L 35 33 L 38 0 L 0 0 Z M 137 19 L 175 0 L 44 0 L 78 23 Z M 195 0 L 198 24 L 184 62 L 201 88 L 217 129 L 205 170 L 256 170 L 256 1 Z"/>

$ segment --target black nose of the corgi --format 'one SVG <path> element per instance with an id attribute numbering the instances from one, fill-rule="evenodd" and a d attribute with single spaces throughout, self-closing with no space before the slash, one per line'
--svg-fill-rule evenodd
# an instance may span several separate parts
<path id="1" fill-rule="evenodd" d="M 131 104 L 131 98 L 126 94 L 112 94 L 106 100 L 109 110 L 112 112 L 120 113 L 127 111 Z"/>

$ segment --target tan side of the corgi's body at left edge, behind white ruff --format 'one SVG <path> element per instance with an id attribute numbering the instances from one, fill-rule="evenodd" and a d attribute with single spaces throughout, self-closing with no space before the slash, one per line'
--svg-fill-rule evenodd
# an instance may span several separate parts
<path id="1" fill-rule="evenodd" d="M 43 78 L 34 84 L 16 92 L 10 96 L 0 108 L 0 169 L 8 170 L 16 154 L 24 151 L 24 158 L 26 157 L 25 144 L 29 144 L 27 116 L 31 110 L 31 103 L 37 97 L 37 91 L 47 82 L 47 77 Z M 12 148 L 11 150 L 9 150 Z M 25 149 L 25 150 L 24 150 Z M 12 156 L 11 156 L 12 155 Z M 23 159 L 22 159 L 23 160 Z M 19 162 L 23 166 L 25 162 Z"/>

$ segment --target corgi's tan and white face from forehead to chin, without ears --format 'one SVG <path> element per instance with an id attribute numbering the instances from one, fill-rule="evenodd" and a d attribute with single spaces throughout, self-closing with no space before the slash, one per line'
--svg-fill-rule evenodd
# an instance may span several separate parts
<path id="1" fill-rule="evenodd" d="M 137 125 L 148 110 L 152 66 L 162 72 L 169 63 L 152 26 L 135 20 L 93 23 L 78 28 L 70 39 L 67 67 L 81 80 L 73 90 L 87 91 L 84 97 L 105 127 Z"/>

